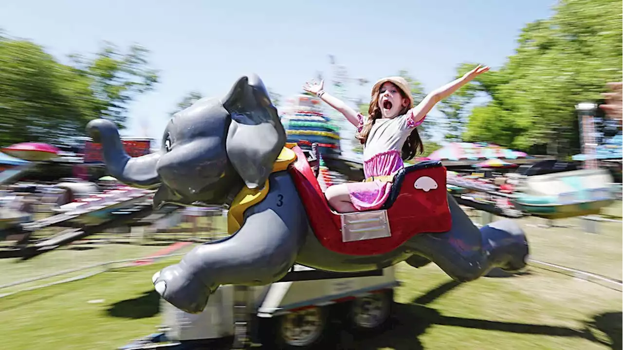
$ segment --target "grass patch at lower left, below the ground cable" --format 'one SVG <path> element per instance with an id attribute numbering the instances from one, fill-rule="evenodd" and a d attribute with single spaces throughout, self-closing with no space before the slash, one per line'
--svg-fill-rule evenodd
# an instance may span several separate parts
<path id="1" fill-rule="evenodd" d="M 124 268 L 0 299 L 4 349 L 115 349 L 159 323 L 153 272 Z"/>

